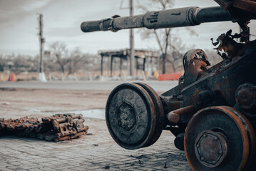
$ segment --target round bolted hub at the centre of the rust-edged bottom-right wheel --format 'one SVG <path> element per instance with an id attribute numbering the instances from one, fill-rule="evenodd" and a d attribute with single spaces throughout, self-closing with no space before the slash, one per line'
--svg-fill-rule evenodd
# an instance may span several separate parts
<path id="1" fill-rule="evenodd" d="M 205 130 L 195 140 L 195 155 L 206 167 L 217 167 L 227 155 L 227 141 L 220 133 Z"/>

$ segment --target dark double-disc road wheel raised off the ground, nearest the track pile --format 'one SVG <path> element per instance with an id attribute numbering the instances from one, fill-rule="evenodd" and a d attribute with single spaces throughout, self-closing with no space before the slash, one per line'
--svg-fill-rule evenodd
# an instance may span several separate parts
<path id="1" fill-rule="evenodd" d="M 155 103 L 138 84 L 124 83 L 112 90 L 106 104 L 106 124 L 112 138 L 126 149 L 151 145 L 158 131 Z M 159 135 L 160 136 L 160 135 Z"/>

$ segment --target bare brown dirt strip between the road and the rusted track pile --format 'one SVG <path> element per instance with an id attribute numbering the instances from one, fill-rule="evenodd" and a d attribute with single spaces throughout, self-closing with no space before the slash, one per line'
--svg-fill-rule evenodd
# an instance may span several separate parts
<path id="1" fill-rule="evenodd" d="M 26 115 L 42 118 L 58 112 L 103 109 L 109 93 L 109 90 L 0 88 L 0 118 Z"/>

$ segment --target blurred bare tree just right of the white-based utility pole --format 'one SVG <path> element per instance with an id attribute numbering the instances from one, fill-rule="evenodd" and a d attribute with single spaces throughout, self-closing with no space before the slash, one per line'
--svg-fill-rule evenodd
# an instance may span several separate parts
<path id="1" fill-rule="evenodd" d="M 64 73 L 66 64 L 71 61 L 70 58 L 68 58 L 68 49 L 66 48 L 66 44 L 56 41 L 51 44 L 50 48 L 53 56 L 56 57 L 56 63 L 61 66 L 61 72 Z"/>

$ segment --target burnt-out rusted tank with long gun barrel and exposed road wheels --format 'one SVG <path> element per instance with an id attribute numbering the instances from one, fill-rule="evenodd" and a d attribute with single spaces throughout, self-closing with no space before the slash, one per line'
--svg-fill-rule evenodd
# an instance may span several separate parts
<path id="1" fill-rule="evenodd" d="M 126 149 L 153 145 L 163 130 L 175 135 L 193 170 L 250 170 L 256 152 L 256 41 L 249 21 L 256 19 L 252 0 L 215 0 L 219 7 L 169 9 L 81 24 L 84 32 L 125 28 L 195 26 L 233 21 L 241 33 L 222 33 L 213 46 L 223 58 L 210 66 L 201 49 L 183 57 L 178 86 L 158 95 L 145 83 L 123 83 L 106 103 L 106 123 L 113 139 Z M 240 38 L 240 43 L 235 41 Z"/>

